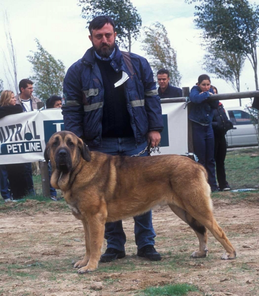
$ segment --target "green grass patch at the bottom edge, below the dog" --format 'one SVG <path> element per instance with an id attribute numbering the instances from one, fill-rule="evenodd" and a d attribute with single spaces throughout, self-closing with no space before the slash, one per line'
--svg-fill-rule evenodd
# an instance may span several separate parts
<path id="1" fill-rule="evenodd" d="M 149 287 L 143 291 L 140 291 L 140 296 L 181 296 L 186 295 L 188 292 L 195 292 L 198 289 L 193 285 L 177 284 L 166 285 L 163 287 Z"/>

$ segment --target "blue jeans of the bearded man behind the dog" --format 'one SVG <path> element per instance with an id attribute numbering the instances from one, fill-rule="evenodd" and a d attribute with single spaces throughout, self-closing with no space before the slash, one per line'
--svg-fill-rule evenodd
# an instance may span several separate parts
<path id="1" fill-rule="evenodd" d="M 89 146 L 89 149 L 111 155 L 131 156 L 145 150 L 148 146 L 147 142 L 136 145 L 135 138 L 103 138 L 102 140 L 102 147 Z M 140 156 L 148 156 L 148 152 L 146 151 Z M 153 246 L 156 235 L 152 225 L 152 212 L 149 211 L 144 215 L 134 217 L 134 221 L 135 242 L 138 249 L 147 245 Z M 122 221 L 105 224 L 105 239 L 107 239 L 107 248 L 114 248 L 119 251 L 125 250 L 126 235 L 122 227 Z"/>

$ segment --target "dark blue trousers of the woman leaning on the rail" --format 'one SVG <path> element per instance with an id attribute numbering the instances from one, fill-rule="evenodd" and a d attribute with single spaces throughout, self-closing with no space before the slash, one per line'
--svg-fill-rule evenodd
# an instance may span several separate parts
<path id="1" fill-rule="evenodd" d="M 214 160 L 214 133 L 212 125 L 201 125 L 192 121 L 192 142 L 198 162 L 208 173 L 208 183 L 211 190 L 217 189 L 215 160 Z"/>

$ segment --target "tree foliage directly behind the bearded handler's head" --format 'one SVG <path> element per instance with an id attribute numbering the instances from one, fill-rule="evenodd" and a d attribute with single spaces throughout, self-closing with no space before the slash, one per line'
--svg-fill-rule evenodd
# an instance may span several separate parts
<path id="1" fill-rule="evenodd" d="M 110 16 L 116 26 L 118 44 L 131 51 L 131 40 L 140 35 L 142 20 L 130 0 L 78 0 L 78 5 L 87 24 L 96 16 Z"/>

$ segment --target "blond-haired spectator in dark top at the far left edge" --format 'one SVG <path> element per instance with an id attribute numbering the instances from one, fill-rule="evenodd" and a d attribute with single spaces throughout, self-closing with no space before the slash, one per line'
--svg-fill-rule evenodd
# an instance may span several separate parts
<path id="1" fill-rule="evenodd" d="M 22 112 L 22 107 L 16 105 L 14 93 L 11 90 L 2 91 L 0 97 L 0 118 Z M 0 165 L 0 178 L 1 195 L 5 202 L 11 200 L 8 185 L 10 185 L 12 198 L 14 200 L 21 199 L 28 194 L 29 188 L 26 180 L 26 167 L 24 163 Z"/>

